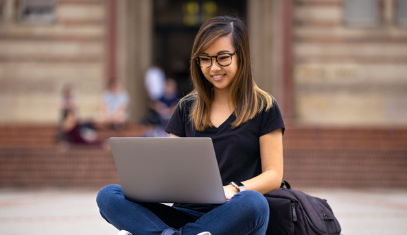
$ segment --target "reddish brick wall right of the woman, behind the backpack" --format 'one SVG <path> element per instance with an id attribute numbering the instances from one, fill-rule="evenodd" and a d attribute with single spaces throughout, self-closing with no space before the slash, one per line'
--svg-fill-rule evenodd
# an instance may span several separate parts
<path id="1" fill-rule="evenodd" d="M 407 129 L 288 126 L 283 145 L 294 186 L 407 188 Z"/>

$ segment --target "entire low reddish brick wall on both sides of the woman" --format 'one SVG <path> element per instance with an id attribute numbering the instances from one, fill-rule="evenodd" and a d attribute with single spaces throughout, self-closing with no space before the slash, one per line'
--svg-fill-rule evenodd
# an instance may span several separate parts
<path id="1" fill-rule="evenodd" d="M 0 187 L 102 187 L 119 184 L 111 151 L 72 147 L 60 151 L 25 138 L 39 127 L 22 127 L 19 145 L 0 142 Z M 48 127 L 52 129 L 51 127 Z M 2 136 L 5 129 L 0 127 Z M 10 127 L 8 127 L 10 130 Z M 13 127 L 15 135 L 18 127 Z M 52 133 L 52 132 L 49 132 Z M 141 136 L 142 128 L 104 133 Z M 16 143 L 13 140 L 12 143 Z M 407 188 L 407 129 L 333 129 L 288 126 L 283 137 L 284 179 L 293 188 Z"/>

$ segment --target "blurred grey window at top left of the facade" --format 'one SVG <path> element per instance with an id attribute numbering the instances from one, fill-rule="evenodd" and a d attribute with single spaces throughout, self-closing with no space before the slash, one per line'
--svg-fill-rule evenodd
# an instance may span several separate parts
<path id="1" fill-rule="evenodd" d="M 56 19 L 56 0 L 20 0 L 21 23 L 53 23 Z"/>

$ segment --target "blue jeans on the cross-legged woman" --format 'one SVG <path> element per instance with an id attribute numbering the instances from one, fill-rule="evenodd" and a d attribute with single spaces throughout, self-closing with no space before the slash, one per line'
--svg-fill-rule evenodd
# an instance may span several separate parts
<path id="1" fill-rule="evenodd" d="M 172 208 L 161 203 L 135 203 L 124 198 L 119 185 L 109 185 L 97 195 L 102 217 L 118 230 L 132 234 L 266 234 L 269 208 L 263 195 L 253 190 L 237 193 L 208 213 Z"/>

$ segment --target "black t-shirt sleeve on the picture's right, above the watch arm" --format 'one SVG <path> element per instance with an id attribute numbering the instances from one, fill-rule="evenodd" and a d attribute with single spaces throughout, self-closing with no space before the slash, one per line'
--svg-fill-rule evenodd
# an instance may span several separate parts
<path id="1" fill-rule="evenodd" d="M 276 129 L 283 128 L 286 129 L 283 121 L 283 116 L 281 116 L 279 105 L 277 101 L 273 99 L 272 107 L 266 111 L 261 112 L 261 126 L 260 126 L 260 135 L 264 136 L 270 132 L 275 131 Z"/>

